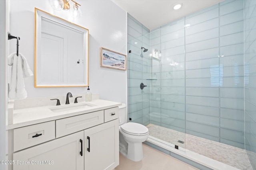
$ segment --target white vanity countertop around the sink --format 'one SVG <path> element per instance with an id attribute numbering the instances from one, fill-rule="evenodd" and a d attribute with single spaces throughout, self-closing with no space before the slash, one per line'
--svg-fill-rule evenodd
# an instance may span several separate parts
<path id="1" fill-rule="evenodd" d="M 66 117 L 81 115 L 84 113 L 90 113 L 98 110 L 109 109 L 116 106 L 121 106 L 121 103 L 111 102 L 108 100 L 92 100 L 92 102 L 86 102 L 95 106 L 75 109 L 71 111 L 53 112 L 49 109 L 51 106 L 39 106 L 28 107 L 22 109 L 13 109 L 13 123 L 6 126 L 6 129 L 15 129 L 18 127 L 24 127 L 28 125 L 34 125 L 37 123 L 43 123 L 47 121 L 53 121 Z"/>

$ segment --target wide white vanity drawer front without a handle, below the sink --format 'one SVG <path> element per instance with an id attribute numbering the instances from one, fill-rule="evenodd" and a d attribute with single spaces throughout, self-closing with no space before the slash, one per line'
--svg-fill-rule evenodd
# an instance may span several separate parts
<path id="1" fill-rule="evenodd" d="M 104 111 L 56 120 L 56 138 L 104 123 Z"/>

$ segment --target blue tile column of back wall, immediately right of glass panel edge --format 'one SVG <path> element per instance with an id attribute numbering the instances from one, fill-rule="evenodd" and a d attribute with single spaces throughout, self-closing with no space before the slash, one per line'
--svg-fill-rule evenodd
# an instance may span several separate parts
<path id="1" fill-rule="evenodd" d="M 186 133 L 213 141 L 220 136 L 218 17 L 218 4 L 185 17 Z"/>

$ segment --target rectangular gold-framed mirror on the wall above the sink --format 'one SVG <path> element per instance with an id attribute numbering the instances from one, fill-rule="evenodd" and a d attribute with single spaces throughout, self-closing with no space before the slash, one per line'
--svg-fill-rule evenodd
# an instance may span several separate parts
<path id="1" fill-rule="evenodd" d="M 88 35 L 35 8 L 35 87 L 88 86 Z"/>

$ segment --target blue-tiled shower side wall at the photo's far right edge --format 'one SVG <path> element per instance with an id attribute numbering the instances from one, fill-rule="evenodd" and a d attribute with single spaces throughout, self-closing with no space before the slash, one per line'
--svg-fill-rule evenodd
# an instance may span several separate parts
<path id="1" fill-rule="evenodd" d="M 256 169 L 256 1 L 244 0 L 245 149 Z"/>

